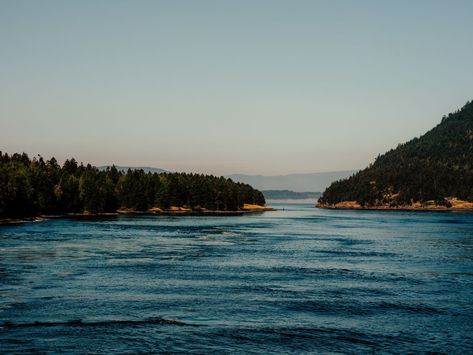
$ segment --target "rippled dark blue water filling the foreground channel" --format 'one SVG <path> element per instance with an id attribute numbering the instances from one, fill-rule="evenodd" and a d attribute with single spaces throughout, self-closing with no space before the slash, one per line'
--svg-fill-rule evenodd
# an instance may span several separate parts
<path id="1" fill-rule="evenodd" d="M 0 227 L 0 352 L 473 351 L 473 214 Z"/>

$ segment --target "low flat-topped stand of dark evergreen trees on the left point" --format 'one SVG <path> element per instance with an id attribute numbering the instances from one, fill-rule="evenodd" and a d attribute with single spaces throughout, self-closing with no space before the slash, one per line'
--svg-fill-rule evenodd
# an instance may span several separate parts
<path id="1" fill-rule="evenodd" d="M 237 211 L 244 203 L 265 199 L 250 185 L 212 175 L 99 170 L 75 159 L 61 166 L 55 158 L 0 152 L 0 218 L 170 206 Z"/>

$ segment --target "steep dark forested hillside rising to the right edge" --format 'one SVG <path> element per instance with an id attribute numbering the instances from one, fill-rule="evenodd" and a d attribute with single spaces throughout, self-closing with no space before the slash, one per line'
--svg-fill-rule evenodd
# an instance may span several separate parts
<path id="1" fill-rule="evenodd" d="M 473 102 L 444 116 L 419 138 L 378 156 L 366 169 L 329 186 L 319 203 L 357 201 L 391 207 L 446 197 L 473 201 Z"/>

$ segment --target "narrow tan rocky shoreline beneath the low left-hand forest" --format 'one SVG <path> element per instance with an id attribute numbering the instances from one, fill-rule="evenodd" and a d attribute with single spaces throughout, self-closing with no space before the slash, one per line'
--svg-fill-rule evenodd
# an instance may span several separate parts
<path id="1" fill-rule="evenodd" d="M 259 206 L 259 205 L 245 205 L 241 210 L 238 211 L 221 211 L 221 210 L 192 210 L 184 207 L 172 207 L 171 209 L 150 209 L 148 211 L 136 211 L 132 209 L 121 209 L 116 212 L 105 212 L 105 213 L 65 213 L 55 215 L 38 215 L 34 217 L 25 218 L 2 218 L 0 219 L 0 225 L 18 225 L 27 222 L 40 222 L 50 219 L 102 219 L 109 217 L 117 217 L 120 215 L 142 215 L 142 216 L 243 216 L 246 214 L 257 214 L 263 212 L 275 211 L 272 207 Z"/>

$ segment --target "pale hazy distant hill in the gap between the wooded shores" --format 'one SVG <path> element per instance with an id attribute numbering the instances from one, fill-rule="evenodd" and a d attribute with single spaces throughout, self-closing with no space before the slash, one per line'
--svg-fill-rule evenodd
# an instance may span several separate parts
<path id="1" fill-rule="evenodd" d="M 250 184 L 259 190 L 290 190 L 296 192 L 323 191 L 333 181 L 346 178 L 354 170 L 326 173 L 290 174 L 279 176 L 233 174 L 226 177 Z"/>

